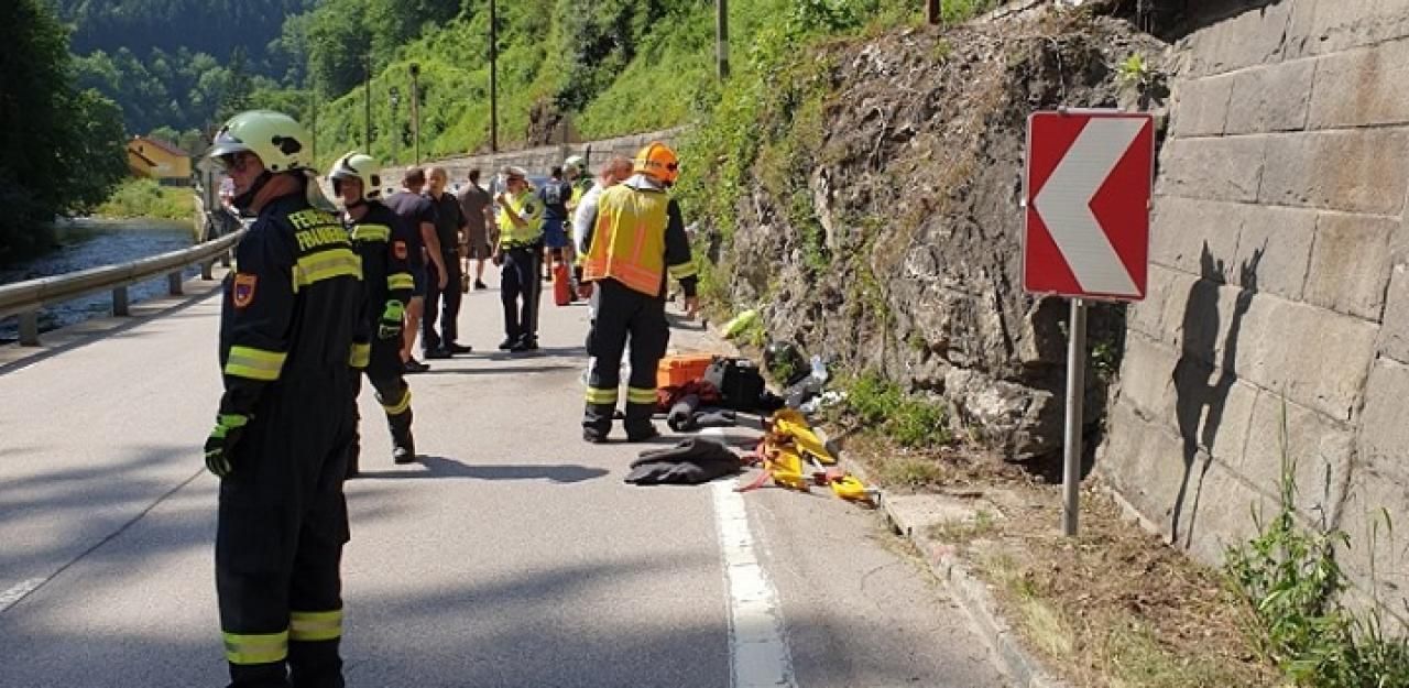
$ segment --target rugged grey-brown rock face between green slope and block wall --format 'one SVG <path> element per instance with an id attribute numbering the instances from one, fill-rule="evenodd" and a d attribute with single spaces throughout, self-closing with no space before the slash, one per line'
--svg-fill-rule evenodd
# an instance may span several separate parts
<path id="1" fill-rule="evenodd" d="M 759 306 L 771 338 L 941 396 L 969 436 L 1027 460 L 1061 450 L 1068 309 L 1022 290 L 1026 118 L 1123 106 L 1137 93 L 1116 65 L 1164 45 L 1116 20 L 1019 14 L 824 51 L 820 118 L 764 145 L 726 258 L 731 299 Z M 1119 351 L 1123 320 L 1095 309 L 1092 347 Z"/>

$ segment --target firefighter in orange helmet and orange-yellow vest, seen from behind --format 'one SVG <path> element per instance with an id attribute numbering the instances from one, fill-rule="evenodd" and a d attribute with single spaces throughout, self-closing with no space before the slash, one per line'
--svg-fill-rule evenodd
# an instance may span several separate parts
<path id="1" fill-rule="evenodd" d="M 681 207 L 666 190 L 679 176 L 675 151 L 652 142 L 637 154 L 633 175 L 602 192 L 596 217 L 581 247 L 582 281 L 595 283 L 596 300 L 588 354 L 582 437 L 606 441 L 620 393 L 621 354 L 631 341 L 631 379 L 627 381 L 626 436 L 643 441 L 658 436 L 651 424 L 655 410 L 655 368 L 671 341 L 665 320 L 666 276 L 685 290 L 689 317 L 699 309 L 695 296 L 695 261 Z M 666 275 L 668 274 L 668 275 Z"/>

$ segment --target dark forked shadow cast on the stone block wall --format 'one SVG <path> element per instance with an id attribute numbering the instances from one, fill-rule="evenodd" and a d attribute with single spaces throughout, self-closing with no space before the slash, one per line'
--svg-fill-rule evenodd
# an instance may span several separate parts
<path id="1" fill-rule="evenodd" d="M 1257 265 L 1262 261 L 1267 247 L 1261 247 L 1239 266 L 1239 285 L 1241 289 L 1229 313 L 1227 336 L 1223 340 L 1222 357 L 1215 364 L 1219 354 L 1219 288 L 1222 286 L 1224 265 L 1222 259 L 1215 259 L 1209 252 L 1208 242 L 1203 244 L 1203 254 L 1199 257 L 1200 279 L 1189 289 L 1189 297 L 1184 307 L 1184 347 L 1179 361 L 1174 367 L 1175 388 L 1175 416 L 1179 423 L 1179 438 L 1184 444 L 1184 479 L 1179 482 L 1179 493 L 1174 500 L 1174 513 L 1169 520 L 1171 540 L 1179 541 L 1181 519 L 1188 510 L 1189 523 L 1184 537 L 1188 547 L 1193 537 L 1193 522 L 1199 513 L 1199 495 L 1203 488 L 1203 478 L 1213 464 L 1210 447 L 1223 424 L 1223 409 L 1227 405 L 1229 392 L 1237 376 L 1233 374 L 1237 361 L 1239 336 L 1243 328 L 1243 316 L 1247 314 L 1257 293 Z M 1212 379 L 1212 382 L 1210 382 Z M 1195 464 L 1198 464 L 1198 484 L 1193 486 L 1192 505 L 1189 503 L 1189 485 L 1195 479 Z"/>

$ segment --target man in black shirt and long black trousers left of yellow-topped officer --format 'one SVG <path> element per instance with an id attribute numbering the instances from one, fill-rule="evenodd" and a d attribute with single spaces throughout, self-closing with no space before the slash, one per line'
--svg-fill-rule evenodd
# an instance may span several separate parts
<path id="1" fill-rule="evenodd" d="M 449 358 L 454 354 L 471 351 L 471 347 L 455 341 L 459 334 L 459 245 L 468 223 L 459 210 L 459 199 L 445 192 L 445 185 L 449 182 L 445 176 L 445 168 L 431 168 L 428 180 L 426 200 L 430 200 L 431 206 L 435 207 L 435 241 L 440 244 L 441 259 L 428 266 L 430 279 L 426 288 L 426 317 L 421 320 L 421 347 L 426 351 L 426 358 Z M 444 309 L 441 309 L 441 302 L 444 302 Z M 435 331 L 437 321 L 440 321 L 440 333 Z"/>

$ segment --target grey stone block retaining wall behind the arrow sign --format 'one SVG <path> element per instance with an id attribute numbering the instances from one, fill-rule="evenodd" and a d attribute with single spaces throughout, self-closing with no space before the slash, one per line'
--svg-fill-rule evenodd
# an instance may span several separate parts
<path id="1" fill-rule="evenodd" d="M 1405 616 L 1409 0 L 1216 4 L 1177 47 L 1098 471 L 1217 561 L 1277 506 L 1285 436 L 1302 516 L 1348 533 L 1358 595 Z"/>

